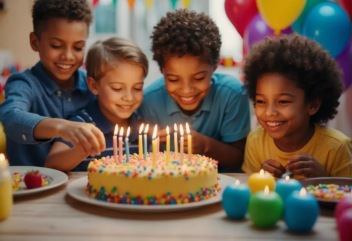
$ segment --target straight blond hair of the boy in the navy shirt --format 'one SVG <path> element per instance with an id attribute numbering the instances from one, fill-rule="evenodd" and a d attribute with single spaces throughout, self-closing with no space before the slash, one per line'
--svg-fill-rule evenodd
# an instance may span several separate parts
<path id="1" fill-rule="evenodd" d="M 138 64 L 144 69 L 144 78 L 148 74 L 148 59 L 143 51 L 130 39 L 112 37 L 96 41 L 87 54 L 87 77 L 96 81 L 113 69 L 121 61 Z"/>

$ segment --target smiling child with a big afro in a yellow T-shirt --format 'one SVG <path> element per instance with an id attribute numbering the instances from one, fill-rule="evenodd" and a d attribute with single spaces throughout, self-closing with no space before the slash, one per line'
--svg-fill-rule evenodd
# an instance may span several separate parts
<path id="1" fill-rule="evenodd" d="M 280 177 L 351 177 L 351 139 L 323 123 L 337 114 L 343 73 L 328 51 L 298 34 L 266 38 L 245 59 L 245 89 L 261 127 L 242 169 Z"/>

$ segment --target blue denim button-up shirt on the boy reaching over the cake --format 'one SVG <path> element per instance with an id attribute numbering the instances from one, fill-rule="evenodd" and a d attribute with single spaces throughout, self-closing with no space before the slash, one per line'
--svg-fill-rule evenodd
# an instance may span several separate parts
<path id="1" fill-rule="evenodd" d="M 0 121 L 4 125 L 6 154 L 11 165 L 43 167 L 52 139 L 34 139 L 34 127 L 45 118 L 67 118 L 95 99 L 87 87 L 86 72 L 79 69 L 74 77 L 73 89 L 62 89 L 44 72 L 39 61 L 31 69 L 8 78 Z"/>

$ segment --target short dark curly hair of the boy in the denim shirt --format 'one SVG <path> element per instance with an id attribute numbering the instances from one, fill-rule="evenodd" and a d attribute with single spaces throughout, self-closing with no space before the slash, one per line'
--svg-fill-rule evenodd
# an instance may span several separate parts
<path id="1" fill-rule="evenodd" d="M 79 20 L 89 26 L 93 21 L 93 14 L 87 0 L 36 0 L 32 7 L 32 18 L 34 34 L 40 38 L 49 19 Z"/>

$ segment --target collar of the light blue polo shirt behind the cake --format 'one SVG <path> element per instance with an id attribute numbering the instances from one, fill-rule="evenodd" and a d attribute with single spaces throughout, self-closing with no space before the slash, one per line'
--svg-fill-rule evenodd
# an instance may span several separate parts
<path id="1" fill-rule="evenodd" d="M 210 110 L 212 109 L 212 103 L 213 103 L 213 92 L 214 92 L 213 89 L 214 89 L 214 81 L 212 78 L 212 80 L 210 81 L 210 90 L 209 90 L 208 94 L 203 98 L 203 100 L 199 106 L 199 109 L 195 115 L 197 115 L 201 111 L 210 112 Z M 173 113 L 182 111 L 180 106 L 177 104 L 177 102 L 174 99 L 171 98 L 170 95 L 168 95 L 166 102 L 168 103 L 166 113 L 169 116 L 171 116 Z"/>

